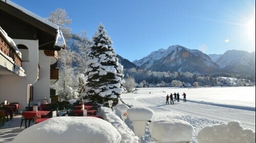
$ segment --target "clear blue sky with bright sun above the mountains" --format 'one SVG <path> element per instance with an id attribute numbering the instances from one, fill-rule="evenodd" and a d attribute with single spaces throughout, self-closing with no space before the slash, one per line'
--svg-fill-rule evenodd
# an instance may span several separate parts
<path id="1" fill-rule="evenodd" d="M 131 61 L 176 44 L 206 54 L 223 54 L 232 49 L 255 51 L 253 0 L 12 2 L 41 17 L 63 8 L 72 19 L 72 33 L 87 31 L 88 38 L 92 38 L 102 22 L 116 53 Z M 252 26 L 248 27 L 249 23 Z"/>

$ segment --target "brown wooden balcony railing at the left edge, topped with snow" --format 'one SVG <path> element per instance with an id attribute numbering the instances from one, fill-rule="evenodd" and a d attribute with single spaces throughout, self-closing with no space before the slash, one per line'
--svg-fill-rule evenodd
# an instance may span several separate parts
<path id="1" fill-rule="evenodd" d="M 22 59 L 19 58 L 15 49 L 7 42 L 7 40 L 4 40 L 4 39 L 5 39 L 4 36 L 0 34 L 0 50 L 6 56 L 11 57 L 12 60 L 14 61 L 14 64 L 18 66 L 22 66 Z"/>

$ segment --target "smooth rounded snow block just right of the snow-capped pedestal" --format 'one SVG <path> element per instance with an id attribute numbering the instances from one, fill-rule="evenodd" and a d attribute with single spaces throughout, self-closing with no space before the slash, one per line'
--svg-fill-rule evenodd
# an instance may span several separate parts
<path id="1" fill-rule="evenodd" d="M 178 119 L 152 121 L 148 128 L 152 138 L 162 143 L 189 142 L 194 132 L 191 124 Z"/>

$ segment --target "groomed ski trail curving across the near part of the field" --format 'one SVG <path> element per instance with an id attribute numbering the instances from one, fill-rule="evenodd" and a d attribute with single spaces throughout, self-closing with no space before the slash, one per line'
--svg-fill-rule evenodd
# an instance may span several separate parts
<path id="1" fill-rule="evenodd" d="M 154 92 L 154 89 L 151 89 Z M 155 89 L 157 91 L 157 89 Z M 160 89 L 161 90 L 161 89 Z M 239 121 L 244 128 L 255 130 L 255 111 L 240 110 L 214 105 L 200 104 L 197 102 L 183 102 L 183 97 L 180 103 L 175 102 L 174 105 L 165 104 L 165 96 L 163 93 L 156 94 L 136 93 L 122 95 L 123 101 L 136 107 L 143 106 L 154 110 L 152 120 L 163 118 L 177 118 L 187 121 L 194 127 L 192 142 L 197 142 L 198 132 L 206 127 L 216 124 L 227 123 L 229 121 Z M 145 137 L 142 137 L 142 142 L 155 142 L 151 135 L 146 131 Z"/>

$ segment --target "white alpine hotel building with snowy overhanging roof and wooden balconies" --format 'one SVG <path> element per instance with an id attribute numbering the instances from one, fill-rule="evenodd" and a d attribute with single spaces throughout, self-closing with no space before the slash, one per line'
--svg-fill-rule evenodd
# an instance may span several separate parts
<path id="1" fill-rule="evenodd" d="M 50 99 L 50 83 L 58 80 L 58 52 L 65 39 L 58 26 L 0 0 L 0 103 Z"/>

